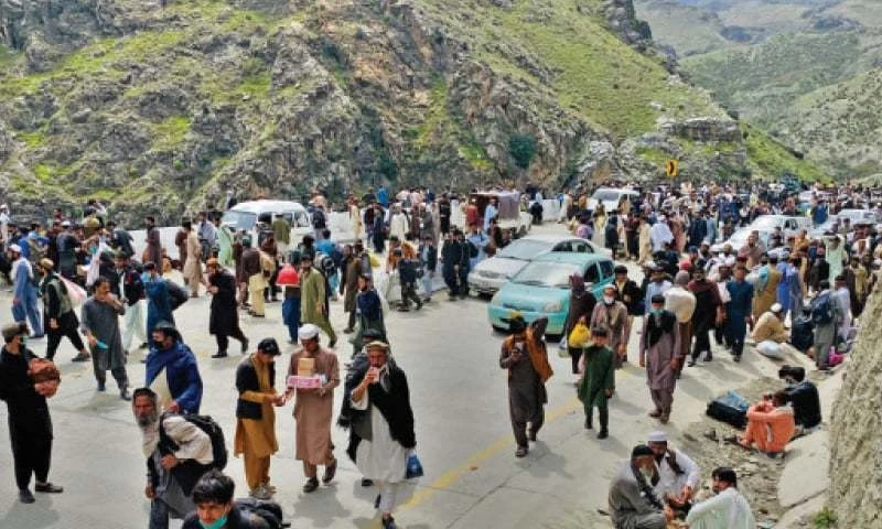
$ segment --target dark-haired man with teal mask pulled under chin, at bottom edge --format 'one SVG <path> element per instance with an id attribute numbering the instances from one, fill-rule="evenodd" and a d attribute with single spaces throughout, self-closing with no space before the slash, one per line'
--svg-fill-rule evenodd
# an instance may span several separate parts
<path id="1" fill-rule="evenodd" d="M 187 517 L 183 529 L 270 529 L 273 525 L 260 512 L 243 508 L 233 499 L 236 484 L 220 471 L 212 471 L 193 487 L 196 511 Z M 275 506 L 278 507 L 278 506 Z"/>

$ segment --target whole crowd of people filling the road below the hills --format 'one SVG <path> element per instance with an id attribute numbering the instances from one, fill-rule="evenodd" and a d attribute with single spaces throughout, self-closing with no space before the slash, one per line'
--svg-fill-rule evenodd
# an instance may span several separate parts
<path id="1" fill-rule="evenodd" d="M 882 236 L 874 224 L 830 225 L 828 216 L 862 208 L 882 218 L 870 190 L 809 190 L 806 205 L 797 202 L 798 194 L 773 186 L 636 191 L 633 202 L 624 196 L 610 212 L 602 204 L 589 208 L 589 194 L 579 190 L 557 197 L 557 220 L 644 271 L 643 278 L 631 278 L 628 267 L 616 266 L 601 299 L 587 289 L 584 278 L 570 278 L 563 347 L 584 404 L 585 429 L 594 428 L 598 408 L 598 438 L 610 435 L 607 402 L 615 393 L 616 369 L 628 361 L 632 335 L 647 377 L 648 414 L 660 424 L 674 412 L 684 368 L 713 361 L 711 334 L 716 349 L 728 349 L 733 361 L 742 359 L 746 345 L 772 358 L 783 358 L 788 349 L 807 354 L 819 370 L 841 361 L 878 279 Z M 520 208 L 541 222 L 546 201 L 530 186 Z M 132 236 L 97 202 L 77 222 L 56 210 L 46 229 L 41 223 L 14 223 L 9 208 L 0 206 L 0 233 L 7 235 L 0 272 L 12 288 L 15 321 L 2 328 L 0 399 L 10 410 L 20 499 L 34 501 L 32 475 L 36 492 L 62 492 L 47 481 L 52 425 L 47 396 L 29 375 L 37 356 L 28 339 L 46 336 L 45 357 L 53 360 L 67 337 L 77 350 L 73 361 L 92 359 L 98 391 L 106 390 L 110 370 L 120 398 L 132 401 L 148 460 L 151 529 L 194 511 L 202 527 L 263 527 L 261 516 L 252 516 L 259 504 L 232 500 L 233 483 L 219 472 L 226 464 L 223 429 L 198 415 L 198 363 L 175 326 L 174 311 L 204 290 L 211 295 L 208 331 L 217 343 L 213 357 L 228 356 L 230 337 L 246 355 L 236 370 L 233 447 L 234 455 L 243 456 L 249 496 L 265 501 L 275 494 L 269 472 L 278 451 L 275 408 L 291 400 L 303 492 L 320 487 L 319 466 L 324 468 L 321 484 L 334 481 L 331 424 L 334 390 L 342 385 L 337 423 L 349 431 L 347 455 L 363 474 L 363 485 L 377 486 L 375 507 L 384 527 L 395 527 L 392 511 L 407 499 L 416 436 L 407 377 L 390 355 L 386 330 L 385 304 L 392 295 L 375 287 L 375 276 L 396 278 L 400 311 L 419 311 L 432 300 L 439 267 L 448 298 L 465 298 L 469 270 L 516 236 L 499 228 L 498 207 L 491 199 L 482 210 L 473 199 L 435 196 L 426 188 L 390 197 L 379 187 L 346 198 L 342 209 L 349 215 L 353 237 L 343 244 L 329 229 L 326 198 L 315 192 L 310 199 L 313 234 L 302 240 L 292 239 L 281 215 L 261 215 L 252 241 L 248 233 L 222 225 L 219 212 L 202 212 L 195 222 L 181 223 L 173 259 L 153 217 L 144 218 L 146 249 L 136 256 Z M 827 229 L 814 237 L 806 229 L 757 229 L 740 248 L 724 245 L 711 251 L 735 226 L 752 226 L 772 213 L 807 216 Z M 173 269 L 180 270 L 183 284 L 170 276 Z M 352 345 L 343 375 L 334 350 L 338 335 L 329 319 L 335 300 L 347 313 L 342 332 L 351 335 Z M 279 385 L 279 344 L 265 338 L 251 349 L 239 315 L 265 317 L 266 303 L 278 301 L 290 343 L 298 345 Z M 512 314 L 510 335 L 502 344 L 499 366 L 508 373 L 517 457 L 528 454 L 544 423 L 545 384 L 552 376 L 546 323 Z M 125 366 L 136 344 L 148 353 L 141 359 L 143 387 L 132 392 Z M 787 367 L 781 378 L 787 387 L 751 407 L 743 434 L 728 441 L 774 456 L 793 436 L 818 427 L 817 389 L 805 373 Z M 649 434 L 613 479 L 610 509 L 616 527 L 662 528 L 675 518 L 692 528 L 753 527 L 734 471 L 714 469 L 717 496 L 699 503 L 700 469 L 667 443 L 664 432 Z M 721 509 L 731 514 L 722 516 Z M 197 527 L 193 516 L 184 527 Z M 218 522 L 232 519 L 254 525 Z"/>

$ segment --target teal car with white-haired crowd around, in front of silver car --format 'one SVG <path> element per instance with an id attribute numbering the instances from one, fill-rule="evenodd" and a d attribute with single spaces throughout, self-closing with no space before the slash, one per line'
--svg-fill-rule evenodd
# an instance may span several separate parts
<path id="1" fill-rule="evenodd" d="M 614 280 L 615 263 L 600 253 L 546 253 L 521 269 L 503 285 L 487 305 L 493 328 L 508 331 L 513 313 L 533 322 L 548 317 L 547 334 L 561 335 L 570 310 L 570 276 L 580 273 L 596 299 Z"/>

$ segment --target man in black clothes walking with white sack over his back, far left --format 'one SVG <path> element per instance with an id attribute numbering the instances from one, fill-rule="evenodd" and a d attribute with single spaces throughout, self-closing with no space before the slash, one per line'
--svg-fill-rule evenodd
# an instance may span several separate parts
<path id="1" fill-rule="evenodd" d="M 76 311 L 74 311 L 71 296 L 67 294 L 67 287 L 62 283 L 58 274 L 54 272 L 54 268 L 55 263 L 50 259 L 40 260 L 39 270 L 43 276 L 40 283 L 40 292 L 43 298 L 43 325 L 49 335 L 46 358 L 50 360 L 55 358 L 55 352 L 58 349 L 62 337 L 67 336 L 71 344 L 79 352 L 73 361 L 88 360 L 89 354 L 83 344 L 83 338 L 79 337 L 79 320 L 76 317 Z"/>

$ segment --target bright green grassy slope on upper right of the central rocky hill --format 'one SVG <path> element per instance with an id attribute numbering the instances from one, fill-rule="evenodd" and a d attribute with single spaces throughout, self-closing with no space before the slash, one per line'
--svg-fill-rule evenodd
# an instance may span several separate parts
<path id="1" fill-rule="evenodd" d="M 484 0 L 419 3 L 459 39 L 472 43 L 477 57 L 491 67 L 550 89 L 563 108 L 615 137 L 654 130 L 653 101 L 675 117 L 720 115 L 700 90 L 668 84 L 658 62 L 624 46 L 596 18 L 580 13 L 577 4 L 585 2 L 518 1 L 512 9 Z M 520 51 L 553 72 L 550 83 L 513 62 L 506 50 Z"/>

